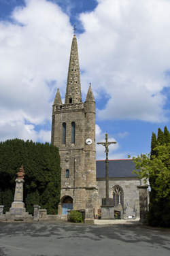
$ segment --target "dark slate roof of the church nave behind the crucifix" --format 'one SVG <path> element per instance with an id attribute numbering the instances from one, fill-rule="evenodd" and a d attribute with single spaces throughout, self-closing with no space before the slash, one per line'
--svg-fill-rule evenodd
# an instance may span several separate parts
<path id="1" fill-rule="evenodd" d="M 105 178 L 105 160 L 97 160 L 97 178 Z M 109 178 L 136 177 L 132 174 L 135 163 L 131 159 L 109 160 Z"/>

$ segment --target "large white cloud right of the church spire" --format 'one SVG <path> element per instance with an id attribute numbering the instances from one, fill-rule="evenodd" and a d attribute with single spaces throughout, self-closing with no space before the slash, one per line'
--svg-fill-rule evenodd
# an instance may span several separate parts
<path id="1" fill-rule="evenodd" d="M 80 15 L 82 88 L 109 95 L 101 119 L 167 121 L 162 90 L 169 86 L 170 1 L 99 0 Z"/>

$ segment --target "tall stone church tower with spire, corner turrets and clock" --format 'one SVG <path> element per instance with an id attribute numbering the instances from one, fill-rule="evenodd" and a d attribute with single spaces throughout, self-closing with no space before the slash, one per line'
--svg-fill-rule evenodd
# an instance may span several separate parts
<path id="1" fill-rule="evenodd" d="M 86 210 L 91 219 L 99 208 L 96 180 L 95 99 L 91 86 L 82 102 L 78 44 L 73 35 L 65 103 L 57 89 L 52 106 L 51 143 L 61 157 L 61 203 L 58 214 L 68 209 Z"/>

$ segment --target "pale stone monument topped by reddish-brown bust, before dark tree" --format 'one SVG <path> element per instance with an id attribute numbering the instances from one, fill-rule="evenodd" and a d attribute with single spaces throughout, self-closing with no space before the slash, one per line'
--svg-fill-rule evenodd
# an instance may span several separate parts
<path id="1" fill-rule="evenodd" d="M 23 185 L 24 185 L 24 167 L 21 165 L 20 171 L 17 173 L 16 189 L 14 194 L 14 202 L 10 208 L 10 212 L 5 213 L 7 219 L 27 219 L 32 217 L 29 212 L 26 212 L 23 202 Z"/>

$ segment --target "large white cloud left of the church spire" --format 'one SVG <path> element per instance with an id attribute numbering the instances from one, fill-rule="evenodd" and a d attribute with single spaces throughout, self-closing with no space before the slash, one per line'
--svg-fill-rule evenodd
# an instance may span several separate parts
<path id="1" fill-rule="evenodd" d="M 25 3 L 0 22 L 0 139 L 44 141 L 35 126 L 50 121 L 54 88 L 65 90 L 72 28 L 58 5 Z"/>

